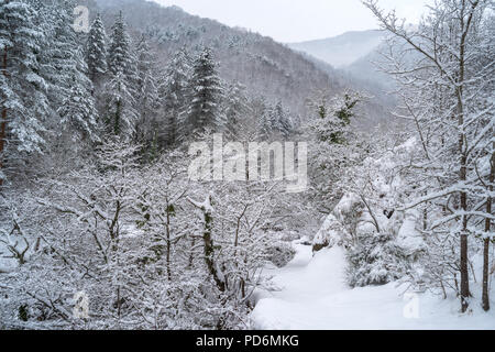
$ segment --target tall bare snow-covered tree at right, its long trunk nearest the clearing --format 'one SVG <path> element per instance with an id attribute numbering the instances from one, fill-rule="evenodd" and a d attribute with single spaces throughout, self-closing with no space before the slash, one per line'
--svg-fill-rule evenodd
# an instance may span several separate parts
<path id="1" fill-rule="evenodd" d="M 493 87 L 495 69 L 493 58 L 480 62 L 480 53 L 493 46 L 493 37 L 482 30 L 490 21 L 491 1 L 438 1 L 415 29 L 396 13 L 385 13 L 376 1 L 364 3 L 392 33 L 394 48 L 386 57 L 387 70 L 400 87 L 404 109 L 398 114 L 414 123 L 422 145 L 421 158 L 413 167 L 431 175 L 420 184 L 424 194 L 405 208 L 436 204 L 426 213 L 428 231 L 459 237 L 460 298 L 465 312 L 471 297 L 469 239 L 483 235 L 482 223 L 493 219 L 481 207 L 491 198 L 486 188 L 481 190 L 475 172 L 477 146 L 493 138 L 494 120 L 487 118 L 493 100 L 486 105 L 480 95 Z"/>

